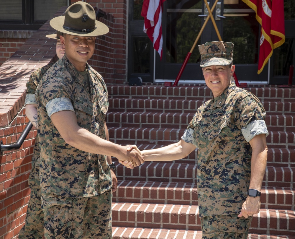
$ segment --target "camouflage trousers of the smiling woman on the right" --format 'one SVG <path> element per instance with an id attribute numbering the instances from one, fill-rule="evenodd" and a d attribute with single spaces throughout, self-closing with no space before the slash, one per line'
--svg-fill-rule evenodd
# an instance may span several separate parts
<path id="1" fill-rule="evenodd" d="M 247 239 L 252 218 L 235 214 L 201 217 L 202 239 Z"/>

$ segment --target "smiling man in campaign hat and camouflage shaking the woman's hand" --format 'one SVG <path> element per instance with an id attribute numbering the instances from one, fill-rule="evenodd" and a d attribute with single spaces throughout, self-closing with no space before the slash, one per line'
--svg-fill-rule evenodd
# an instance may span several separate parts
<path id="1" fill-rule="evenodd" d="M 143 163 L 136 146 L 109 142 L 108 92 L 87 61 L 96 36 L 109 28 L 91 5 L 78 1 L 50 25 L 62 33 L 65 56 L 47 70 L 36 90 L 44 236 L 112 238 L 112 191 L 117 178 L 111 156 Z"/>

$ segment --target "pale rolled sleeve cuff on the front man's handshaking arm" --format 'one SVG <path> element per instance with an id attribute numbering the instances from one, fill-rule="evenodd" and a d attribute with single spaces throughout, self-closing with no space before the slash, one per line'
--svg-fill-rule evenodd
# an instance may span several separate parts
<path id="1" fill-rule="evenodd" d="M 51 117 L 52 114 L 63 110 L 75 112 L 71 100 L 67 97 L 59 97 L 48 101 L 46 104 L 46 110 L 49 117 Z"/>

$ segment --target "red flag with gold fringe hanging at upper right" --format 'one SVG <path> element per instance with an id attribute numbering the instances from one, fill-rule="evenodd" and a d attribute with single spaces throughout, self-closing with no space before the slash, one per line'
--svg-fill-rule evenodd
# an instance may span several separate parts
<path id="1" fill-rule="evenodd" d="M 261 25 L 258 74 L 273 54 L 273 49 L 285 42 L 283 0 L 242 0 L 256 12 Z"/>

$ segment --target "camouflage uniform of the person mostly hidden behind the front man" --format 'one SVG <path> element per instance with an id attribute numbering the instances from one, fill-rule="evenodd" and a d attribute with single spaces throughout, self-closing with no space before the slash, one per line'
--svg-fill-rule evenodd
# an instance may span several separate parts
<path id="1" fill-rule="evenodd" d="M 24 105 L 37 104 L 35 98 L 35 91 L 38 83 L 42 79 L 45 72 L 54 64 L 50 63 L 46 66 L 42 66 L 34 71 L 29 81 L 27 82 L 26 100 Z M 19 239 L 21 238 L 42 238 L 43 236 L 43 224 L 44 213 L 41 209 L 41 188 L 39 179 L 40 168 L 40 148 L 38 135 L 35 138 L 35 146 L 33 149 L 32 157 L 32 170 L 29 176 L 29 186 L 31 189 L 31 195 L 28 203 L 27 214 L 25 219 L 25 225 L 19 232 Z"/>

